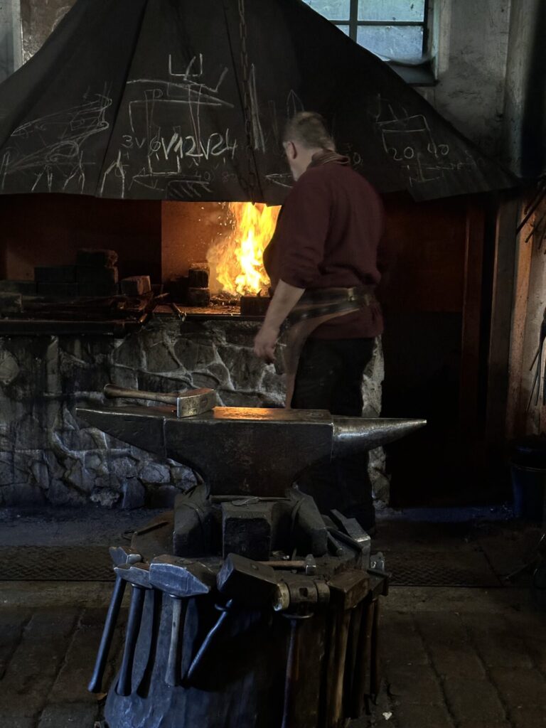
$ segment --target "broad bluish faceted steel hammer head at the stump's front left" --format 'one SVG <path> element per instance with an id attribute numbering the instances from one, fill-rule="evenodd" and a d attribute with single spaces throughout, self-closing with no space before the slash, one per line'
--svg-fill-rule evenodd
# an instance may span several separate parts
<path id="1" fill-rule="evenodd" d="M 207 594 L 216 575 L 205 563 L 176 556 L 157 556 L 150 564 L 150 583 L 171 596 L 184 598 Z"/>

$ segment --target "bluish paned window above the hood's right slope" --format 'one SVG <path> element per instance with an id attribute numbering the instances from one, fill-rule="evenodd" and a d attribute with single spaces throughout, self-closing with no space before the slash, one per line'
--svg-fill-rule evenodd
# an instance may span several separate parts
<path id="1" fill-rule="evenodd" d="M 429 0 L 304 0 L 358 44 L 384 60 L 427 54 Z"/>

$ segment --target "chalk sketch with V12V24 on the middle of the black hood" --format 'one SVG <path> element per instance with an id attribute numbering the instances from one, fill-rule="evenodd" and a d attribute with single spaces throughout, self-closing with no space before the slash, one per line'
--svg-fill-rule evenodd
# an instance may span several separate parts
<path id="1" fill-rule="evenodd" d="M 138 185 L 176 199 L 199 198 L 209 191 L 215 178 L 209 165 L 234 159 L 237 138 L 233 138 L 229 127 L 211 130 L 210 116 L 202 114 L 205 108 L 233 108 L 220 95 L 228 68 L 220 68 L 210 81 L 205 58 L 199 54 L 180 68 L 169 55 L 167 69 L 167 79 L 127 82 L 133 90 L 123 112 L 127 114 L 127 132 L 119 138 L 116 156 L 106 167 L 100 194 L 115 191 L 124 197 Z M 250 90 L 255 138 L 263 148 L 254 68 Z M 122 162 L 124 155 L 130 161 L 129 167 Z M 203 165 L 207 165 L 206 169 L 198 171 Z"/>

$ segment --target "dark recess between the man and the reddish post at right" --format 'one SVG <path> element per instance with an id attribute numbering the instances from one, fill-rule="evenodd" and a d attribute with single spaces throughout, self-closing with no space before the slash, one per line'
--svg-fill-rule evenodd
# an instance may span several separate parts
<path id="1" fill-rule="evenodd" d="M 387 449 L 395 506 L 454 505 L 480 497 L 459 437 L 467 198 L 384 197 L 387 272 L 383 413 L 428 425 Z M 474 487 L 474 486 L 473 486 Z"/>

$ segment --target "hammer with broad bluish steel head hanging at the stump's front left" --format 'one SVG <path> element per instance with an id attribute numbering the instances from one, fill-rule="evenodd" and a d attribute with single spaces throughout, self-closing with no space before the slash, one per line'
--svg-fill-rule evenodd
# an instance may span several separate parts
<path id="1" fill-rule="evenodd" d="M 178 674 L 178 650 L 186 618 L 185 608 L 188 599 L 208 594 L 216 584 L 216 574 L 205 563 L 178 558 L 176 556 L 157 556 L 150 564 L 150 584 L 166 592 L 172 601 L 173 620 L 170 632 L 169 657 L 165 670 L 165 684 L 170 687 L 180 684 Z M 184 607 L 184 613 L 183 613 Z"/>

